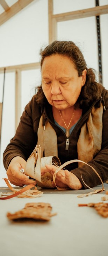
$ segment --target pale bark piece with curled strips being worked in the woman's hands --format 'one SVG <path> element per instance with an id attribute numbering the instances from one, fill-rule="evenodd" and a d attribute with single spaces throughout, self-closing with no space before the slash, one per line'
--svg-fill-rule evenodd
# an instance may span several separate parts
<path id="1" fill-rule="evenodd" d="M 54 156 L 54 157 L 56 157 L 56 156 Z M 43 161 L 44 161 L 44 165 L 43 166 L 45 166 L 46 159 L 47 160 L 50 159 L 50 162 L 47 162 L 47 164 L 48 163 L 52 164 L 52 158 L 53 157 L 45 157 L 45 158 L 43 158 Z M 57 163 L 58 165 L 57 164 L 55 164 L 55 165 L 58 167 L 60 165 L 60 161 L 59 161 L 58 157 L 56 157 L 56 158 L 58 160 L 58 163 Z M 50 174 L 47 176 L 47 173 L 46 173 L 46 175 L 43 175 L 41 177 L 41 165 L 42 165 L 41 147 L 39 145 L 36 145 L 34 151 L 31 153 L 30 157 L 27 160 L 26 167 L 25 167 L 25 173 L 26 173 L 26 175 L 29 175 L 31 178 L 35 179 L 37 181 L 37 183 L 38 183 L 38 186 L 46 187 L 46 188 L 53 188 L 52 180 L 53 180 L 54 184 L 56 185 L 56 174 L 61 169 L 63 169 L 66 165 L 72 164 L 73 162 L 81 162 L 83 164 L 88 165 L 86 162 L 78 160 L 78 159 L 67 161 L 63 165 L 60 165 L 58 167 L 58 169 L 53 174 L 53 177 L 51 177 Z M 101 180 L 101 183 L 102 183 L 102 188 L 96 189 L 96 190 L 91 188 L 93 190 L 93 192 L 90 192 L 88 194 L 83 194 L 83 195 L 80 195 L 78 197 L 87 196 L 89 194 L 96 194 L 96 193 L 102 192 L 104 190 L 103 182 L 102 182 L 102 179 L 101 179 L 100 175 L 98 174 L 98 172 L 91 165 L 88 165 L 88 166 L 92 168 L 92 170 L 96 173 L 96 175 L 98 175 L 98 177 L 99 177 L 99 179 Z M 81 175 L 81 178 L 82 178 L 82 175 Z M 82 181 L 84 182 L 83 179 L 82 179 Z M 84 184 L 87 187 L 89 187 L 85 182 L 84 182 Z M 58 190 L 67 190 L 67 189 L 70 189 L 70 188 L 69 187 L 66 187 L 66 188 L 57 187 L 57 189 Z"/>

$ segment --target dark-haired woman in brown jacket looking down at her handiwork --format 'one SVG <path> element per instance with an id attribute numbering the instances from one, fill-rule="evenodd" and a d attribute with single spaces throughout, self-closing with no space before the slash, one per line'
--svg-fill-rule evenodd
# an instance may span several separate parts
<path id="1" fill-rule="evenodd" d="M 108 91 L 95 81 L 94 71 L 87 69 L 81 51 L 73 42 L 54 41 L 40 54 L 42 85 L 26 106 L 16 134 L 3 154 L 8 179 L 18 186 L 33 183 L 20 169 L 39 144 L 43 156 L 58 154 L 61 164 L 72 159 L 85 161 L 105 182 L 108 179 Z M 54 165 L 46 165 L 42 175 L 53 174 L 56 169 Z M 59 187 L 86 189 L 85 183 L 93 187 L 101 181 L 91 167 L 77 162 L 56 175 Z"/>

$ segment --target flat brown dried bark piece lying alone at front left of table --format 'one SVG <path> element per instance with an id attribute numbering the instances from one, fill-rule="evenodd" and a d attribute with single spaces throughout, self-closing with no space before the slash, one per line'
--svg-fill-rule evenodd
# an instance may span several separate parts
<path id="1" fill-rule="evenodd" d="M 56 213 L 51 214 L 51 210 L 50 203 L 26 203 L 22 210 L 14 214 L 7 213 L 7 217 L 9 220 L 35 219 L 49 221 L 50 217 L 56 215 Z"/>

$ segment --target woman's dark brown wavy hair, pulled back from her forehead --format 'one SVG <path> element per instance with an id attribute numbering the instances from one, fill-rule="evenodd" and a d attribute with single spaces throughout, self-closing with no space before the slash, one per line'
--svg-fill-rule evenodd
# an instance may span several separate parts
<path id="1" fill-rule="evenodd" d="M 80 49 L 75 45 L 75 43 L 72 41 L 54 41 L 44 49 L 41 49 L 41 68 L 44 58 L 53 54 L 60 54 L 69 57 L 70 60 L 74 63 L 75 69 L 78 71 L 78 76 L 82 75 L 82 71 L 84 69 L 87 70 L 86 82 L 82 87 L 80 96 L 78 98 L 78 102 L 81 108 L 83 108 L 83 106 L 88 106 L 90 103 L 98 100 L 101 97 L 101 93 L 104 87 L 102 84 L 96 82 L 95 70 L 92 68 L 87 69 L 84 56 Z M 37 102 L 39 103 L 44 98 L 45 96 L 42 90 L 42 86 L 37 87 Z"/>

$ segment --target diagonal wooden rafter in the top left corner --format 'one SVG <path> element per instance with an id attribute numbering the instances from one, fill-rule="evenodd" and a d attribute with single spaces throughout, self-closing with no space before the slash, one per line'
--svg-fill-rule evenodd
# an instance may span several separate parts
<path id="1" fill-rule="evenodd" d="M 16 13 L 20 12 L 24 7 L 29 5 L 34 0 L 19 0 L 12 5 L 6 12 L 0 14 L 0 25 L 12 18 Z M 5 2 L 5 1 L 3 1 Z"/>

